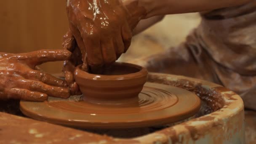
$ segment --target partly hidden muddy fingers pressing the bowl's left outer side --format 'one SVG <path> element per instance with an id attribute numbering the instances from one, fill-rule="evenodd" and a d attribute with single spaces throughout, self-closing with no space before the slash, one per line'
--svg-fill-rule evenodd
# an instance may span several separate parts
<path id="1" fill-rule="evenodd" d="M 71 95 L 80 95 L 80 89 L 75 82 L 74 78 L 74 70 L 75 67 L 77 67 L 80 64 L 83 64 L 83 67 L 86 67 L 86 63 L 83 63 L 82 61 L 82 54 L 80 49 L 77 46 L 75 37 L 72 35 L 70 30 L 64 35 L 64 41 L 62 43 L 63 48 L 72 52 L 72 56 L 69 60 L 64 61 L 64 67 L 63 67 L 63 72 L 65 75 L 65 80 L 67 81 L 67 84 L 69 85 L 70 88 L 70 93 Z M 85 68 L 84 70 L 87 71 Z"/>

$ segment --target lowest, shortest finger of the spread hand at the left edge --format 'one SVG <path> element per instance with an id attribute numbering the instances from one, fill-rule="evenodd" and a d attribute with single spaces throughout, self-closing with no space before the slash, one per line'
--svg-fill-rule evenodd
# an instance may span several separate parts
<path id="1" fill-rule="evenodd" d="M 44 93 L 29 91 L 23 88 L 11 88 L 5 90 L 5 93 L 8 94 L 8 99 L 21 99 L 27 101 L 45 101 L 48 99 L 48 96 Z"/>

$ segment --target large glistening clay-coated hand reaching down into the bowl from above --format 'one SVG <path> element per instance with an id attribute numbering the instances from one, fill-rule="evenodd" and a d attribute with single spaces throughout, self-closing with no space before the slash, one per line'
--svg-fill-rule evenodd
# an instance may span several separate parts
<path id="1" fill-rule="evenodd" d="M 124 5 L 121 0 L 67 0 L 70 29 L 83 62 L 99 67 L 127 51 L 132 29 L 145 13 L 137 7 L 138 2 Z"/>

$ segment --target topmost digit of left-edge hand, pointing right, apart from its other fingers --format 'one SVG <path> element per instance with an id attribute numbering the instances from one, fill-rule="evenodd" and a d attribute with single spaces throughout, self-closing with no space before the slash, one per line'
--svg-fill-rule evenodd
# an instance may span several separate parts
<path id="1" fill-rule="evenodd" d="M 25 60 L 30 64 L 40 65 L 48 61 L 65 61 L 70 59 L 68 50 L 39 50 L 30 53 L 21 53 L 16 56 L 18 60 Z"/>

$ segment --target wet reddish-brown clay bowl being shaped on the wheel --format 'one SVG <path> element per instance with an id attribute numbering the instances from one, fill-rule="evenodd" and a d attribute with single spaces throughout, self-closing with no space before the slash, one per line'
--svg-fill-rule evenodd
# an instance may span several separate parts
<path id="1" fill-rule="evenodd" d="M 144 67 L 115 62 L 103 68 L 101 74 L 75 69 L 75 81 L 85 99 L 116 100 L 137 97 L 147 81 Z"/>

